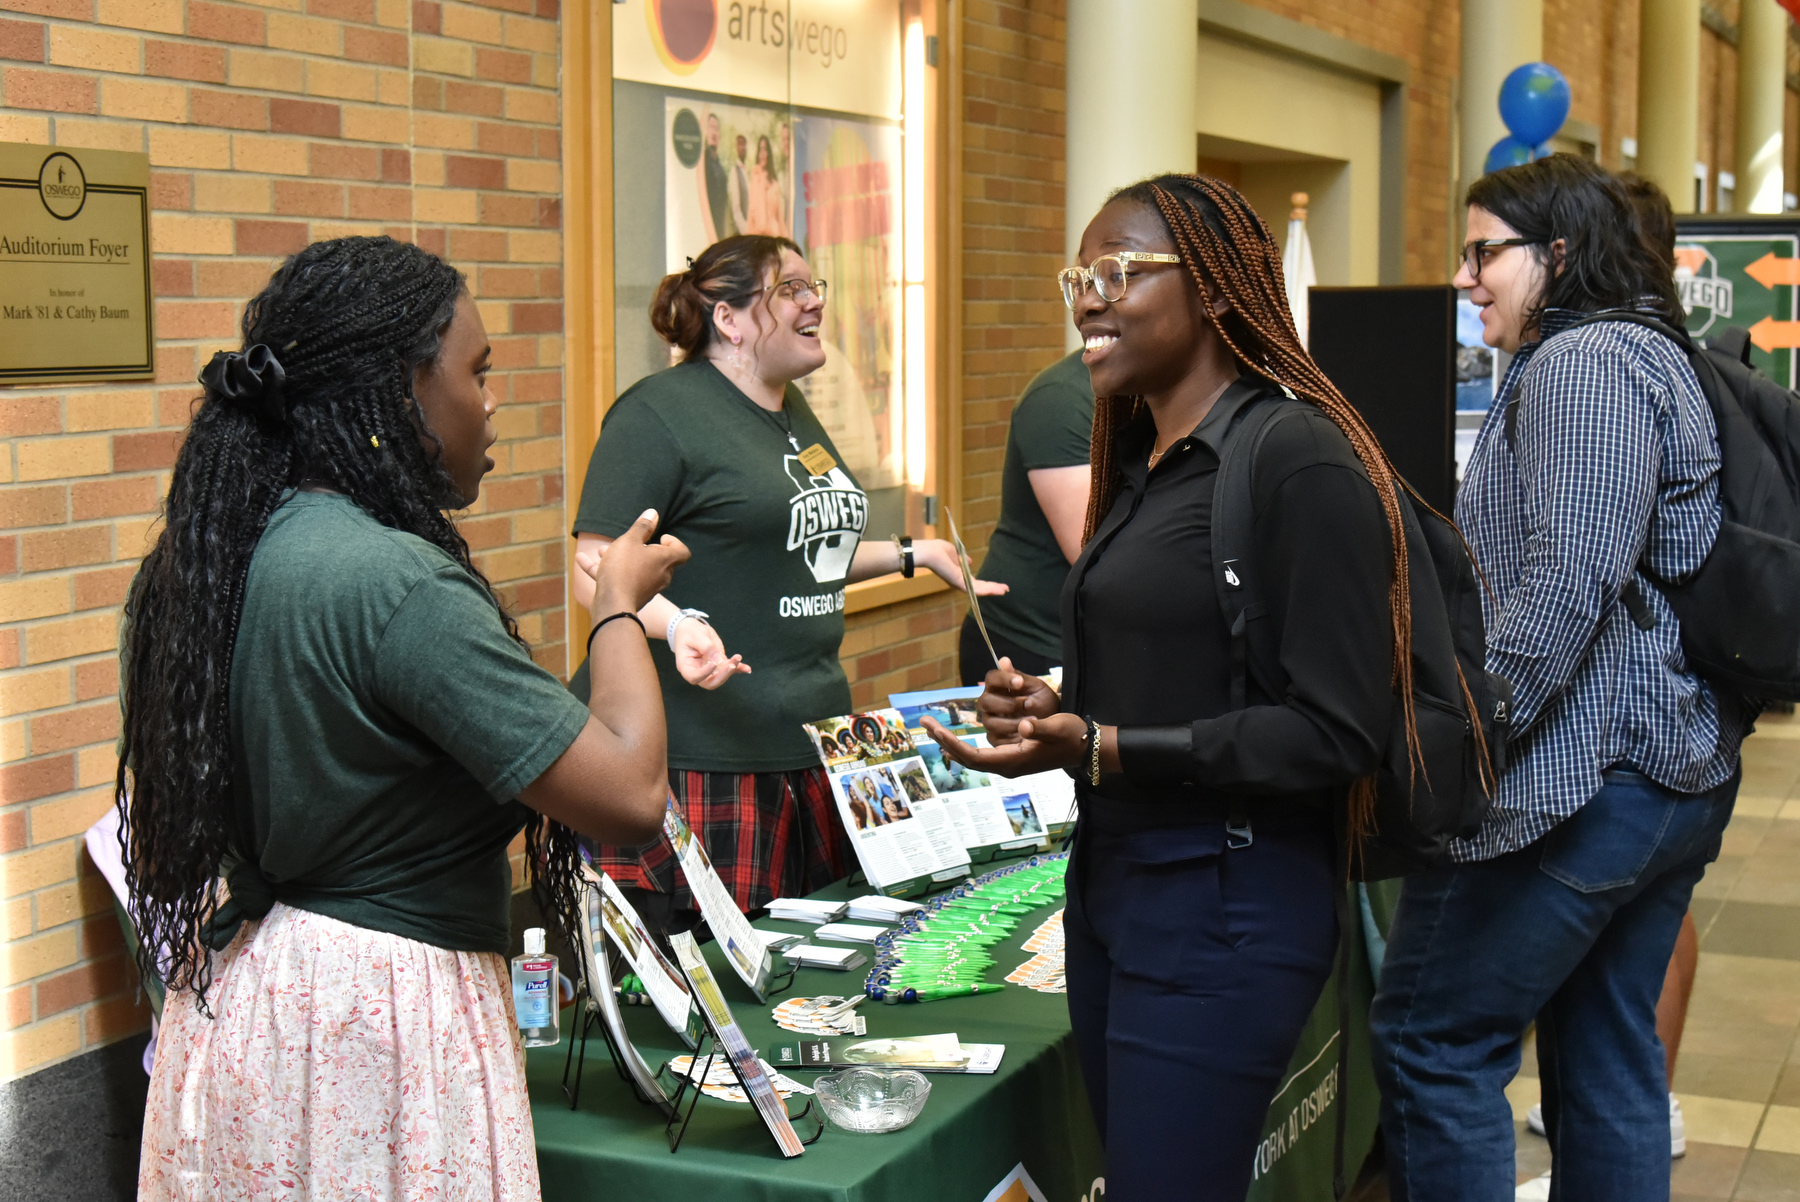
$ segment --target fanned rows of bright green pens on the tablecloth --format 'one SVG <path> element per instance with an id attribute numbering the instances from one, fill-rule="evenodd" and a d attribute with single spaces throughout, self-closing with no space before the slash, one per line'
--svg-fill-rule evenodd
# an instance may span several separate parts
<path id="1" fill-rule="evenodd" d="M 875 941 L 864 991 L 886 1004 L 999 993 L 985 981 L 1001 939 L 1035 909 L 1062 902 L 1067 853 L 1031 857 L 943 893 Z"/>

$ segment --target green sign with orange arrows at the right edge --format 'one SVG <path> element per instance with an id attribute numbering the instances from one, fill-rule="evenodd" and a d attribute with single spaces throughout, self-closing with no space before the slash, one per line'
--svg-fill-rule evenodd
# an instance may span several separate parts
<path id="1" fill-rule="evenodd" d="M 1750 362 L 1793 389 L 1800 349 L 1800 220 L 1681 218 L 1676 223 L 1676 286 L 1688 333 L 1750 331 Z"/>

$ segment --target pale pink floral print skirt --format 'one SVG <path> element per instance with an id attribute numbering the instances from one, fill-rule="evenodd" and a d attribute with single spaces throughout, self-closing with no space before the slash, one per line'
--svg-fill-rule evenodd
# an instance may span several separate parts
<path id="1" fill-rule="evenodd" d="M 171 995 L 139 1198 L 538 1197 L 506 959 L 277 903 Z"/>

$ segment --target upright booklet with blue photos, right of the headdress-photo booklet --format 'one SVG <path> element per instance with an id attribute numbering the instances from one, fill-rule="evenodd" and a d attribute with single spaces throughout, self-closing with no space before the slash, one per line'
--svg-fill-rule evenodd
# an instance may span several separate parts
<path id="1" fill-rule="evenodd" d="M 945 756 L 925 732 L 923 720 L 934 718 L 965 743 L 986 747 L 988 736 L 976 709 L 979 696 L 981 686 L 974 684 L 965 689 L 893 693 L 887 704 L 905 720 L 938 795 L 961 812 L 958 831 L 963 833 L 972 862 L 983 864 L 1030 848 L 1048 849 L 1048 815 L 1064 815 L 1075 804 L 1075 781 L 1067 772 L 1033 772 L 1012 779 L 976 772 Z"/>

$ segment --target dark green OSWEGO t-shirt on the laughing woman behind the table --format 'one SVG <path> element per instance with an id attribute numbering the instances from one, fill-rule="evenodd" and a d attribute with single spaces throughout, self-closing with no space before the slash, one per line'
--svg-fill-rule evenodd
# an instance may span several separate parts
<path id="1" fill-rule="evenodd" d="M 788 441 L 787 419 L 794 423 Z M 814 475 L 801 452 L 837 461 Z M 823 464 L 815 464 L 823 466 Z M 837 662 L 844 578 L 868 522 L 868 497 L 832 437 L 788 385 L 781 414 L 747 398 L 707 360 L 670 367 L 626 389 L 607 412 L 587 464 L 576 534 L 617 538 L 644 509 L 693 558 L 664 596 L 704 610 L 751 675 L 698 689 L 675 671 L 661 639 L 670 767 L 785 772 L 819 763 L 803 722 L 850 713 Z M 587 666 L 569 682 L 587 696 Z"/>

